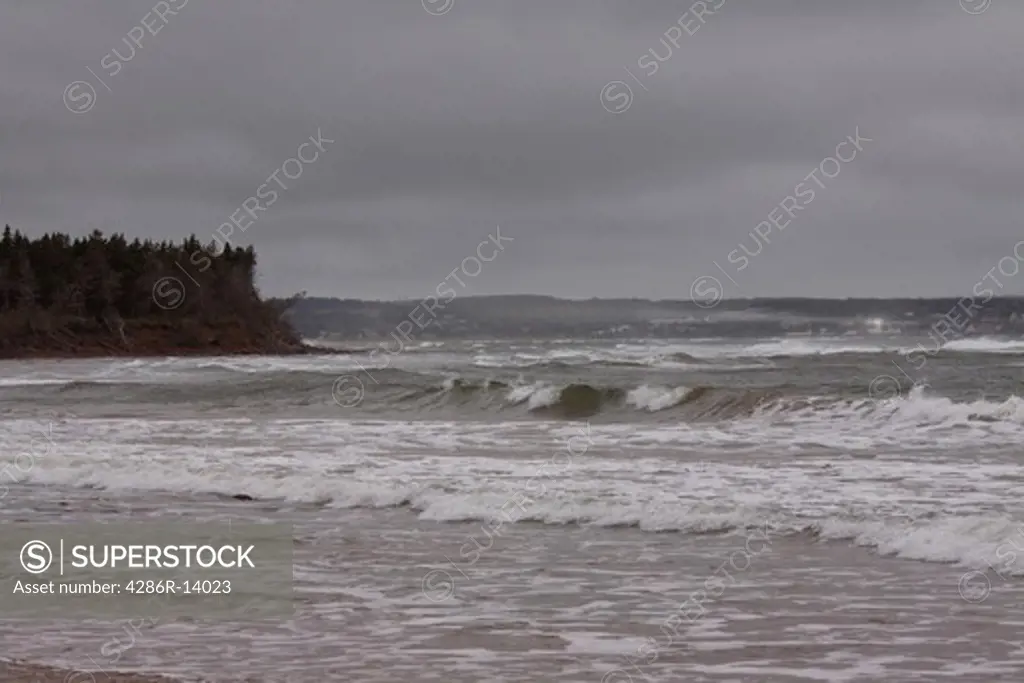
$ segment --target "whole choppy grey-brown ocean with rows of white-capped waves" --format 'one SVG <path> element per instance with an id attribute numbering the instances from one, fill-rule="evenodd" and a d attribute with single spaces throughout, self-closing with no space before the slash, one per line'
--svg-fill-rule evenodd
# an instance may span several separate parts
<path id="1" fill-rule="evenodd" d="M 129 646 L 6 620 L 3 656 L 75 681 L 1019 681 L 1024 339 L 882 323 L 5 361 L 6 522 L 292 524 L 295 611 Z"/>

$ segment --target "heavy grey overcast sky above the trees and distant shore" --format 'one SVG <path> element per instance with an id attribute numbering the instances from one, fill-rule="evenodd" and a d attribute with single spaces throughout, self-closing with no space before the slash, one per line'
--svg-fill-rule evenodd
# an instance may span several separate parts
<path id="1" fill-rule="evenodd" d="M 234 213 L 267 295 L 424 296 L 497 225 L 466 293 L 927 296 L 1015 270 L 1024 3 L 697 4 L 3 0 L 0 223 L 210 241 Z"/>

